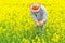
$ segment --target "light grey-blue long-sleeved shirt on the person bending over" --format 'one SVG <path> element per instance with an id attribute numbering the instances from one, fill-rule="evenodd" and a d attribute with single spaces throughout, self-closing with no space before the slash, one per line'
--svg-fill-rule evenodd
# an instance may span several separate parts
<path id="1" fill-rule="evenodd" d="M 31 12 L 31 15 L 32 15 L 32 18 L 38 22 L 48 18 L 48 14 L 47 14 L 46 8 L 43 5 L 41 5 L 41 9 L 38 13 Z"/>

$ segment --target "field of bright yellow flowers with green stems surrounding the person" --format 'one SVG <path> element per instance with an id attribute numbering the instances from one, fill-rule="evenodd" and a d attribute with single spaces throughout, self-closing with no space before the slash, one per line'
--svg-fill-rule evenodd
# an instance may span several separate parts
<path id="1" fill-rule="evenodd" d="M 30 4 L 46 6 L 44 34 L 35 34 Z M 43 38 L 41 38 L 43 37 Z M 0 0 L 0 43 L 65 43 L 65 0 Z"/>

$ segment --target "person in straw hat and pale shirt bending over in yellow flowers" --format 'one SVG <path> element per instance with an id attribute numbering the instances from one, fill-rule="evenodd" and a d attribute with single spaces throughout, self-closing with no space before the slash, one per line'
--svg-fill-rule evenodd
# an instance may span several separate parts
<path id="1" fill-rule="evenodd" d="M 36 35 L 39 33 L 43 34 L 44 33 L 43 25 L 48 18 L 46 8 L 39 3 L 32 3 L 30 5 L 30 13 L 36 24 L 36 28 L 35 28 Z M 38 31 L 39 27 L 41 32 Z"/>

